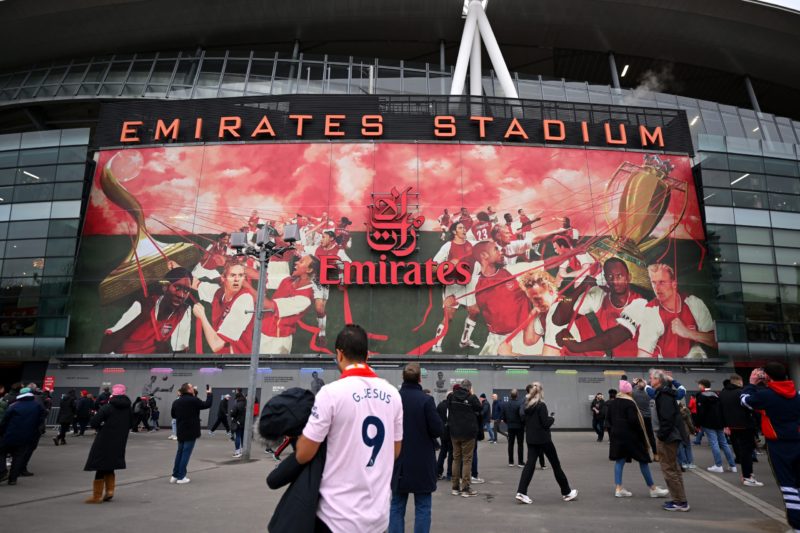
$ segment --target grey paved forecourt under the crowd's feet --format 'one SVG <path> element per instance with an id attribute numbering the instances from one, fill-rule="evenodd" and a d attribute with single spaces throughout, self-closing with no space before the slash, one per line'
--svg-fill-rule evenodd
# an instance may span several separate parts
<path id="1" fill-rule="evenodd" d="M 169 431 L 132 434 L 128 469 L 117 472 L 113 502 L 85 505 L 93 474 L 83 471 L 92 437 L 67 437 L 66 446 L 53 445 L 52 430 L 43 438 L 30 469 L 34 477 L 20 478 L 16 486 L 0 485 L 0 530 L 50 528 L 59 533 L 96 531 L 170 533 L 198 531 L 263 532 L 280 491 L 265 484 L 275 462 L 254 450 L 255 461 L 232 459 L 233 444 L 224 433 L 205 433 L 189 465 L 191 483 L 170 485 L 175 442 Z M 533 505 L 514 499 L 519 468 L 509 468 L 506 444 L 480 444 L 479 495 L 450 495 L 449 483 L 440 482 L 433 498 L 433 531 L 443 532 L 597 532 L 724 531 L 784 532 L 783 506 L 766 456 L 755 465 L 764 487 L 745 488 L 738 474 L 710 474 L 708 446 L 695 447 L 698 470 L 685 474 L 692 510 L 667 513 L 664 500 L 650 499 L 635 464 L 625 469 L 625 486 L 633 498 L 613 497 L 613 465 L 607 444 L 595 442 L 593 433 L 554 433 L 564 471 L 578 499 L 563 502 L 552 470 L 539 471 L 529 490 Z M 663 484 L 658 465 L 654 478 Z M 409 502 L 406 530 L 412 530 L 413 505 Z M 24 529 L 23 529 L 24 528 Z M 113 528 L 113 529 L 109 529 Z"/>

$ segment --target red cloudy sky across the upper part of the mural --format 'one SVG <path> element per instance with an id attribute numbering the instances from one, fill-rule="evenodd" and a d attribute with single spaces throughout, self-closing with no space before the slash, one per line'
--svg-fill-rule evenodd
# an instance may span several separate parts
<path id="1" fill-rule="evenodd" d="M 624 162 L 641 164 L 644 154 L 569 148 L 468 144 L 292 143 L 209 145 L 122 150 L 133 161 L 116 177 L 138 200 L 153 234 L 218 233 L 245 225 L 253 209 L 267 219 L 297 213 L 347 216 L 351 230 L 364 228 L 372 192 L 411 186 L 433 230 L 444 208 L 462 206 L 474 215 L 492 206 L 502 217 L 517 209 L 542 218 L 541 231 L 569 216 L 583 235 L 605 234 L 604 210 L 617 212 L 619 191 L 606 185 Z M 118 151 L 99 156 L 102 168 Z M 135 154 L 139 154 L 136 156 Z M 134 157 L 130 157 L 134 155 Z M 122 157 L 122 156 L 121 156 Z M 141 158 L 138 173 L 136 167 Z M 688 157 L 663 156 L 671 177 L 686 184 L 688 207 L 679 238 L 703 238 Z M 119 159 L 117 160 L 120 161 Z M 127 173 L 128 175 L 123 175 Z M 654 234 L 680 213 L 683 192 L 673 192 L 669 210 Z M 87 235 L 129 234 L 132 218 L 111 204 L 99 186 L 92 190 Z"/>

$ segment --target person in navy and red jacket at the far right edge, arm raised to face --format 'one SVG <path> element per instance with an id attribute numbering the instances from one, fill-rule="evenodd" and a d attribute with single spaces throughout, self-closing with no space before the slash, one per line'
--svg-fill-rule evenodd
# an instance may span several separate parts
<path id="1" fill-rule="evenodd" d="M 775 480 L 781 488 L 786 520 L 800 530 L 800 394 L 786 367 L 767 363 L 750 374 L 742 405 L 761 413 L 761 430 Z"/>

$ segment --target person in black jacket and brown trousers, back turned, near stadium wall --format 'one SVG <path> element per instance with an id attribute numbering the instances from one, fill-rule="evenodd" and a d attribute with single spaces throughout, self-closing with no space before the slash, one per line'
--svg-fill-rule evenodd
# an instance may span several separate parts
<path id="1" fill-rule="evenodd" d="M 472 393 L 472 382 L 465 379 L 453 387 L 447 404 L 447 425 L 453 443 L 453 496 L 470 498 L 478 493 L 472 488 L 472 455 L 480 428 L 481 404 Z"/>

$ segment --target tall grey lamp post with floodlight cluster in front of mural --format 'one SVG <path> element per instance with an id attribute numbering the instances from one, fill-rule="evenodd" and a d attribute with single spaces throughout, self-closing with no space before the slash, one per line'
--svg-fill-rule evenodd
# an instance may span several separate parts
<path id="1" fill-rule="evenodd" d="M 261 227 L 256 233 L 255 245 L 247 242 L 247 234 L 243 232 L 231 234 L 231 247 L 236 249 L 237 255 L 249 255 L 258 259 L 258 292 L 255 298 L 255 310 L 253 317 L 253 349 L 250 352 L 250 382 L 248 385 L 248 394 L 250 395 L 250 402 L 247 406 L 244 422 L 244 450 L 242 456 L 250 460 L 250 451 L 253 443 L 253 426 L 255 424 L 253 407 L 256 400 L 256 387 L 258 380 L 258 360 L 259 348 L 261 345 L 261 321 L 264 318 L 264 295 L 267 292 L 267 267 L 269 267 L 269 260 L 275 255 L 283 255 L 283 253 L 294 249 L 293 243 L 297 240 L 297 225 L 287 224 L 283 228 L 283 241 L 287 243 L 286 246 L 275 246 L 275 242 L 271 237 L 276 235 L 276 232 L 270 226 Z"/>

